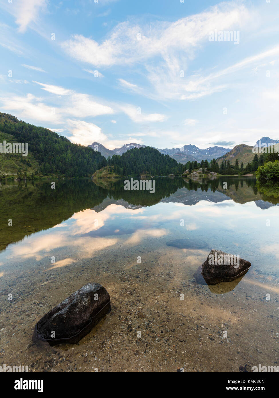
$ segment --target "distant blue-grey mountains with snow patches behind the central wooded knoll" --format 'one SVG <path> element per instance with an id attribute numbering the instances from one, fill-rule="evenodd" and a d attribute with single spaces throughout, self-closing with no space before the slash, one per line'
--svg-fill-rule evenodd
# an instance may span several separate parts
<path id="1" fill-rule="evenodd" d="M 108 158 L 109 156 L 113 155 L 122 155 L 123 153 L 127 152 L 129 149 L 133 148 L 141 148 L 145 147 L 145 145 L 140 145 L 140 144 L 135 144 L 135 143 L 130 143 L 130 144 L 125 144 L 121 148 L 115 148 L 115 149 L 107 149 L 105 146 L 100 144 L 99 142 L 93 142 L 91 145 L 88 145 L 90 148 L 93 150 L 98 150 L 101 152 L 105 158 Z M 155 148 L 155 147 L 153 147 Z M 211 160 L 213 158 L 217 159 L 220 156 L 228 153 L 231 149 L 230 148 L 223 148 L 222 146 L 210 146 L 209 148 L 206 149 L 200 149 L 195 145 L 183 145 L 180 148 L 164 148 L 164 149 L 158 149 L 162 154 L 164 155 L 169 155 L 171 158 L 174 158 L 177 162 L 185 164 L 188 161 L 194 162 L 195 160 L 197 162 L 200 162 L 201 160 Z"/>

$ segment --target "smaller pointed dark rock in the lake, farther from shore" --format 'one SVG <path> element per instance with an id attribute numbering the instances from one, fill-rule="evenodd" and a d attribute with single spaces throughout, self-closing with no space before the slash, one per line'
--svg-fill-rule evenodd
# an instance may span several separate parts
<path id="1" fill-rule="evenodd" d="M 251 263 L 236 255 L 211 250 L 202 265 L 201 275 L 208 285 L 219 282 L 234 281 L 243 276 L 250 268 Z"/>

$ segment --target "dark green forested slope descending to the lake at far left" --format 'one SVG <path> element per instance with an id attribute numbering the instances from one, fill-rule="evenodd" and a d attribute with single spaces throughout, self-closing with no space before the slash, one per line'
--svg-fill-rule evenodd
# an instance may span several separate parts
<path id="1" fill-rule="evenodd" d="M 35 175 L 88 177 L 106 165 L 105 157 L 100 152 L 95 152 L 87 146 L 72 144 L 70 140 L 60 134 L 44 127 L 19 121 L 16 117 L 1 112 L 0 132 L 3 135 L 10 135 L 14 142 L 28 143 L 28 156 L 21 159 L 20 166 L 15 166 L 19 175 L 28 172 L 27 166 L 30 164 L 35 169 Z M 13 158 L 9 155 L 1 154 L 2 157 L 9 158 L 11 162 Z M 22 158 L 19 154 L 16 156 Z M 31 164 L 31 159 L 35 160 L 33 164 Z M 7 162 L 6 166 L 8 167 Z M 5 170 L 0 170 L 0 174 L 5 174 Z"/>

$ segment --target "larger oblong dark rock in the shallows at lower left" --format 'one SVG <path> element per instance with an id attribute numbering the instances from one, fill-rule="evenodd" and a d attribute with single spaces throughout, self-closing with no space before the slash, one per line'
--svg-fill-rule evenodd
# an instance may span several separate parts
<path id="1" fill-rule="evenodd" d="M 110 309 L 110 297 L 100 283 L 88 283 L 37 322 L 33 342 L 77 343 Z"/>

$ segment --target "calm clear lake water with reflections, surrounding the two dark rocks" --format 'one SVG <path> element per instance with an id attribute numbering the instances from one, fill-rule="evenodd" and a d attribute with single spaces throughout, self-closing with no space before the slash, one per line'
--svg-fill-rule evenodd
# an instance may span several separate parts
<path id="1" fill-rule="evenodd" d="M 279 190 L 251 177 L 155 180 L 154 194 L 124 191 L 124 180 L 59 180 L 55 189 L 51 181 L 1 182 L 1 365 L 279 366 Z M 177 239 L 187 248 L 167 245 Z M 252 266 L 234 282 L 199 285 L 194 275 L 211 249 Z M 88 282 L 107 289 L 111 312 L 78 344 L 34 345 L 35 323 Z"/>

